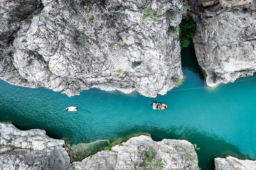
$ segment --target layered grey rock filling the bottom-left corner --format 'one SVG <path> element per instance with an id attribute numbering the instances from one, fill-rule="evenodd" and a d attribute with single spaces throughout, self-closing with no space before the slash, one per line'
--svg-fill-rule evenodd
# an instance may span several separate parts
<path id="1" fill-rule="evenodd" d="M 18 130 L 0 123 L 0 169 L 67 169 L 70 160 L 63 145 L 44 130 Z"/>

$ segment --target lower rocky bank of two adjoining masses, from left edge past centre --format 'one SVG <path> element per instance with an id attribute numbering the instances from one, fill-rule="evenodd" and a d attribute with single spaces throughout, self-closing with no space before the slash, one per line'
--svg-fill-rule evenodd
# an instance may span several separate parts
<path id="1" fill-rule="evenodd" d="M 0 123 L 0 169 L 199 169 L 198 158 L 186 140 L 132 137 L 111 151 L 101 151 L 70 164 L 63 140 L 44 130 L 18 130 Z"/>

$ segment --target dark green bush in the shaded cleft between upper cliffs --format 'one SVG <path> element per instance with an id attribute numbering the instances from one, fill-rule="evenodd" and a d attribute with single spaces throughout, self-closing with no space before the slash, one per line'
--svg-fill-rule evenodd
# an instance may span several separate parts
<path id="1" fill-rule="evenodd" d="M 196 33 L 196 23 L 193 18 L 183 19 L 180 24 L 181 49 L 191 44 L 192 38 Z"/>

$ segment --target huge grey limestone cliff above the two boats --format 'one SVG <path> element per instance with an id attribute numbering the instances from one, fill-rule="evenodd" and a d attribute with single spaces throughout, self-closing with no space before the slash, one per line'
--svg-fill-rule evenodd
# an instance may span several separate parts
<path id="1" fill-rule="evenodd" d="M 6 6 L 9 3 L 18 6 L 18 1 L 4 1 Z M 26 19 L 0 27 L 5 43 L 0 78 L 11 84 L 45 86 L 68 96 L 92 86 L 109 86 L 156 97 L 183 78 L 176 31 L 181 0 L 34 4 L 28 11 L 23 8 L 33 13 Z M 15 10 L 1 11 L 0 23 Z"/>

